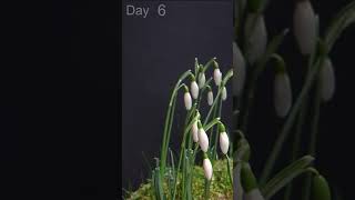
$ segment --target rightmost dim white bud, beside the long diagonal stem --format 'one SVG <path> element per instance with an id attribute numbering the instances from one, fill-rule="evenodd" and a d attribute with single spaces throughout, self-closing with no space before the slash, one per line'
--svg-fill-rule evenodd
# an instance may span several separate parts
<path id="1" fill-rule="evenodd" d="M 329 58 L 324 60 L 321 69 L 321 97 L 324 102 L 333 98 L 335 91 L 335 74 Z"/>

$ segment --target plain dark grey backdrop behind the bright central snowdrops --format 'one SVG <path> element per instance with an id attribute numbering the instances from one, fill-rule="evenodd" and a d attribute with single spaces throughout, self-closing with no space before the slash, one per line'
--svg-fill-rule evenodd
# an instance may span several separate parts
<path id="1" fill-rule="evenodd" d="M 148 6 L 151 12 L 145 19 L 128 17 L 125 4 Z M 156 14 L 158 4 L 122 4 L 122 188 L 136 188 L 148 174 L 142 152 L 151 163 L 159 157 L 171 90 L 178 77 L 193 68 L 194 58 L 205 63 L 217 57 L 224 74 L 232 63 L 232 1 L 164 2 L 165 17 Z M 231 91 L 231 84 L 227 89 Z M 178 98 L 171 140 L 174 149 L 180 144 L 185 116 L 182 94 Z M 232 99 L 223 110 L 223 120 L 229 122 L 225 117 L 232 113 Z"/>

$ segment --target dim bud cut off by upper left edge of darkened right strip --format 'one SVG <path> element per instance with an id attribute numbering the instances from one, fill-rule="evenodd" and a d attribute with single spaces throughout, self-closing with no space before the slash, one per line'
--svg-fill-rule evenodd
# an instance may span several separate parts
<path id="1" fill-rule="evenodd" d="M 233 42 L 233 94 L 239 97 L 242 93 L 245 82 L 245 60 L 235 42 Z"/>

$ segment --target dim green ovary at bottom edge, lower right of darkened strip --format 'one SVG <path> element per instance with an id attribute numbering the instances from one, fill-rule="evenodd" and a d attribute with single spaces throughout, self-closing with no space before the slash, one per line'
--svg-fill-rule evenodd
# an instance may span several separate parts
<path id="1" fill-rule="evenodd" d="M 331 200 L 331 189 L 324 177 L 317 174 L 312 181 L 312 200 Z"/>

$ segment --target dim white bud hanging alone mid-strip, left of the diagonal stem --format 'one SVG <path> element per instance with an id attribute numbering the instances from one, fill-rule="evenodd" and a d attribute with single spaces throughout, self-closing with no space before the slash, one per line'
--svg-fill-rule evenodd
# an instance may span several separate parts
<path id="1" fill-rule="evenodd" d="M 286 73 L 276 73 L 274 81 L 274 107 L 281 118 L 287 116 L 292 106 L 292 90 Z"/>

